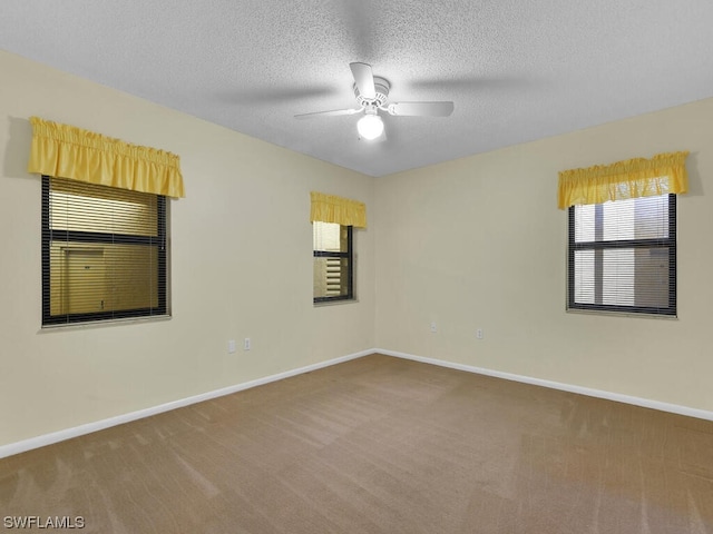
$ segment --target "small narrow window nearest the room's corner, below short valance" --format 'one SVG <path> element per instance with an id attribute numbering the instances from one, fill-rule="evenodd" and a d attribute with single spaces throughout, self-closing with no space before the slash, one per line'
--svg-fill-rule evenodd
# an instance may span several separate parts
<path id="1" fill-rule="evenodd" d="M 352 227 L 312 222 L 314 249 L 314 301 L 354 298 Z"/>

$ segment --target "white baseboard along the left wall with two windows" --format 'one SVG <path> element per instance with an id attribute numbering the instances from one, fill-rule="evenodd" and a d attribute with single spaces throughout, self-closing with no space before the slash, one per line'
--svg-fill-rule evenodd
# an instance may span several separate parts
<path id="1" fill-rule="evenodd" d="M 64 442 L 65 439 L 71 439 L 72 437 L 82 436 L 92 432 L 102 431 L 111 426 L 123 425 L 124 423 L 130 423 L 131 421 L 143 419 L 144 417 L 150 417 L 152 415 L 162 414 L 172 409 L 182 408 L 192 404 L 202 403 L 212 398 L 222 397 L 232 393 L 242 392 L 243 389 L 250 389 L 251 387 L 262 386 L 270 384 L 271 382 L 282 380 L 290 378 L 291 376 L 301 375 L 303 373 L 310 373 L 311 370 L 321 369 L 322 367 L 329 367 L 331 365 L 341 364 L 342 362 L 349 362 L 350 359 L 361 358 L 374 354 L 374 350 L 362 350 L 360 353 L 350 354 L 340 358 L 329 359 L 326 362 L 320 362 L 316 364 L 307 365 L 296 369 L 286 370 L 276 375 L 266 376 L 264 378 L 257 378 L 255 380 L 244 382 L 234 386 L 223 387 L 213 392 L 202 393 L 187 398 L 180 398 L 170 403 L 160 404 L 150 408 L 139 409 L 128 414 L 117 415 L 107 419 L 97 421 L 94 423 L 87 423 L 86 425 L 75 426 L 72 428 L 66 428 L 50 434 L 43 434 L 41 436 L 31 437 L 21 442 L 10 443 L 8 445 L 0 446 L 0 458 L 12 456 L 14 454 L 25 453 L 33 448 L 43 447 L 53 443 Z"/>

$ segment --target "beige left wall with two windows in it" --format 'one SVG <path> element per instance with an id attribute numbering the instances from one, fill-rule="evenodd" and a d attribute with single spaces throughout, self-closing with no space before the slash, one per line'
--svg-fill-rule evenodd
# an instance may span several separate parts
<path id="1" fill-rule="evenodd" d="M 372 178 L 4 52 L 0 72 L 0 445 L 374 346 L 373 230 L 354 233 L 359 301 L 315 308 L 309 221 L 310 190 L 370 211 Z M 180 156 L 170 320 L 40 329 L 33 115 Z"/>

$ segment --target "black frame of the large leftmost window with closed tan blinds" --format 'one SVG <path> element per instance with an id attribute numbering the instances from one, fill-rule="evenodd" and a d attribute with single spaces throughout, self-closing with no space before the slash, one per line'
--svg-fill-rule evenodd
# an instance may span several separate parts
<path id="1" fill-rule="evenodd" d="M 157 318 L 168 316 L 168 212 L 167 198 L 164 195 L 156 196 L 157 236 L 138 236 L 128 234 L 106 234 L 98 231 L 53 230 L 50 227 L 50 180 L 53 177 L 42 175 L 42 202 L 41 202 L 41 295 L 42 295 L 42 327 L 78 325 L 95 322 L 110 322 L 128 318 Z M 91 185 L 91 184 L 89 184 Z M 110 186 L 105 186 L 110 187 Z M 59 236 L 56 238 L 55 236 Z M 125 310 L 94 312 L 81 314 L 51 315 L 50 289 L 50 248 L 53 240 L 87 243 L 87 244 L 121 244 L 155 246 L 157 256 L 157 291 L 158 304 L 156 307 L 134 308 Z"/>

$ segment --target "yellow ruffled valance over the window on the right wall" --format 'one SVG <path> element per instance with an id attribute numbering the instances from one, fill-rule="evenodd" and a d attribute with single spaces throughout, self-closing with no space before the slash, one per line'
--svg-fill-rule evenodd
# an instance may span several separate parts
<path id="1" fill-rule="evenodd" d="M 688 190 L 687 151 L 559 172 L 559 209 Z"/>

